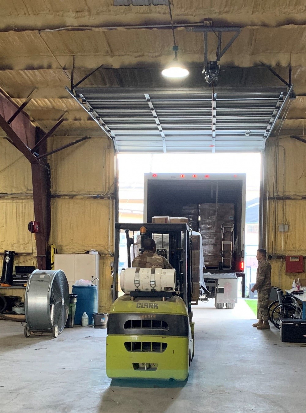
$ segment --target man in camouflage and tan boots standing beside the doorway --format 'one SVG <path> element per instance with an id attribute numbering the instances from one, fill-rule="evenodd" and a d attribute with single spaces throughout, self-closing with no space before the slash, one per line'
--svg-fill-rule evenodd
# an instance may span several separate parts
<path id="1" fill-rule="evenodd" d="M 257 330 L 269 330 L 269 298 L 271 291 L 271 264 L 266 260 L 265 249 L 258 249 L 256 259 L 259 261 L 257 268 L 256 284 L 251 292 L 258 292 L 258 323 L 253 324 Z"/>

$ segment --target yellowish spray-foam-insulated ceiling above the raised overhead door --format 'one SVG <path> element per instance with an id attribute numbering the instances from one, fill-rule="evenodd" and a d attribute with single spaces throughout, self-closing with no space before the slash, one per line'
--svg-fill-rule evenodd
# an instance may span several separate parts
<path id="1" fill-rule="evenodd" d="M 173 22 L 180 26 L 175 29 L 178 56 L 190 69 L 190 76 L 175 85 L 160 76 L 161 68 L 173 59 L 168 6 L 154 5 L 153 1 L 145 1 L 145 6 L 124 3 L 129 5 L 114 6 L 114 0 L 5 2 L 0 9 L 0 88 L 17 104 L 33 92 L 25 111 L 45 131 L 64 115 L 64 122 L 54 133 L 59 141 L 63 136 L 104 137 L 100 126 L 65 90 L 65 86 L 71 87 L 73 57 L 74 83 L 103 64 L 81 84 L 82 88 L 204 88 L 204 93 L 210 93 L 201 73 L 203 33 L 184 26 L 209 19 L 214 27 L 241 27 L 240 35 L 221 58 L 217 88 L 282 91 L 283 83 L 260 62 L 272 66 L 286 81 L 291 66 L 297 97 L 290 100 L 278 132 L 303 135 L 304 0 L 172 0 Z M 224 44 L 231 36 L 223 33 Z M 214 33 L 209 33 L 208 40 L 209 59 L 213 60 L 217 44 Z M 255 148 L 259 149 L 260 145 Z"/>

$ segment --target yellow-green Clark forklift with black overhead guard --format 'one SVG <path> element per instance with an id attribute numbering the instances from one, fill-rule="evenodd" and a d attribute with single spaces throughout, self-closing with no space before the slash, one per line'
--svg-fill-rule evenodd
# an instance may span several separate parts
<path id="1" fill-rule="evenodd" d="M 120 273 L 124 294 L 118 297 L 120 235 L 121 240 L 126 237 L 128 265 Z M 131 250 L 133 256 L 142 253 L 142 242 L 148 237 L 158 240 L 157 253 L 168 258 L 173 270 L 131 268 Z M 183 223 L 115 224 L 108 377 L 187 379 L 194 355 L 190 242 L 189 228 Z"/>

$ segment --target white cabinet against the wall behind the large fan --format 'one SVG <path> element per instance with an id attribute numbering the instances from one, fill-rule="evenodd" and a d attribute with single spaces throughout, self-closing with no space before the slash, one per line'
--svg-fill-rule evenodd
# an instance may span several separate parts
<path id="1" fill-rule="evenodd" d="M 99 278 L 99 258 L 99 254 L 55 254 L 54 269 L 64 271 L 69 292 L 72 292 L 75 281 Z M 98 280 L 95 280 L 95 285 L 99 285 Z"/>

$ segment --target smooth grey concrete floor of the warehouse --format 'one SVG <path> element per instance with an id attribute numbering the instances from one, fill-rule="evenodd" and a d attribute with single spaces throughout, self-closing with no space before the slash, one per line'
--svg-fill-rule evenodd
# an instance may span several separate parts
<path id="1" fill-rule="evenodd" d="M 76 327 L 57 339 L 26 339 L 0 321 L 0 412 L 294 412 L 306 402 L 304 344 L 252 327 L 240 299 L 233 310 L 195 306 L 195 358 L 189 379 L 111 381 L 106 330 Z"/>

